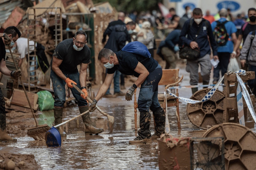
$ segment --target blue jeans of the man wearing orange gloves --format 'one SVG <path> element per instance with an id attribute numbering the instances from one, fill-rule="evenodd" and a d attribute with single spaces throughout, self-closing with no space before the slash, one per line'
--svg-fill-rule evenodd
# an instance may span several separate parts
<path id="1" fill-rule="evenodd" d="M 73 80 L 77 83 L 77 87 L 81 89 L 80 81 L 79 81 L 79 73 L 73 74 L 64 74 L 70 80 Z M 51 79 L 52 79 L 52 86 L 55 96 L 54 107 L 63 107 L 66 101 L 66 82 L 62 80 L 53 70 L 51 70 Z M 77 101 L 78 107 L 87 106 L 87 101 L 84 100 L 80 93 L 75 88 L 70 88 L 73 96 Z"/>

